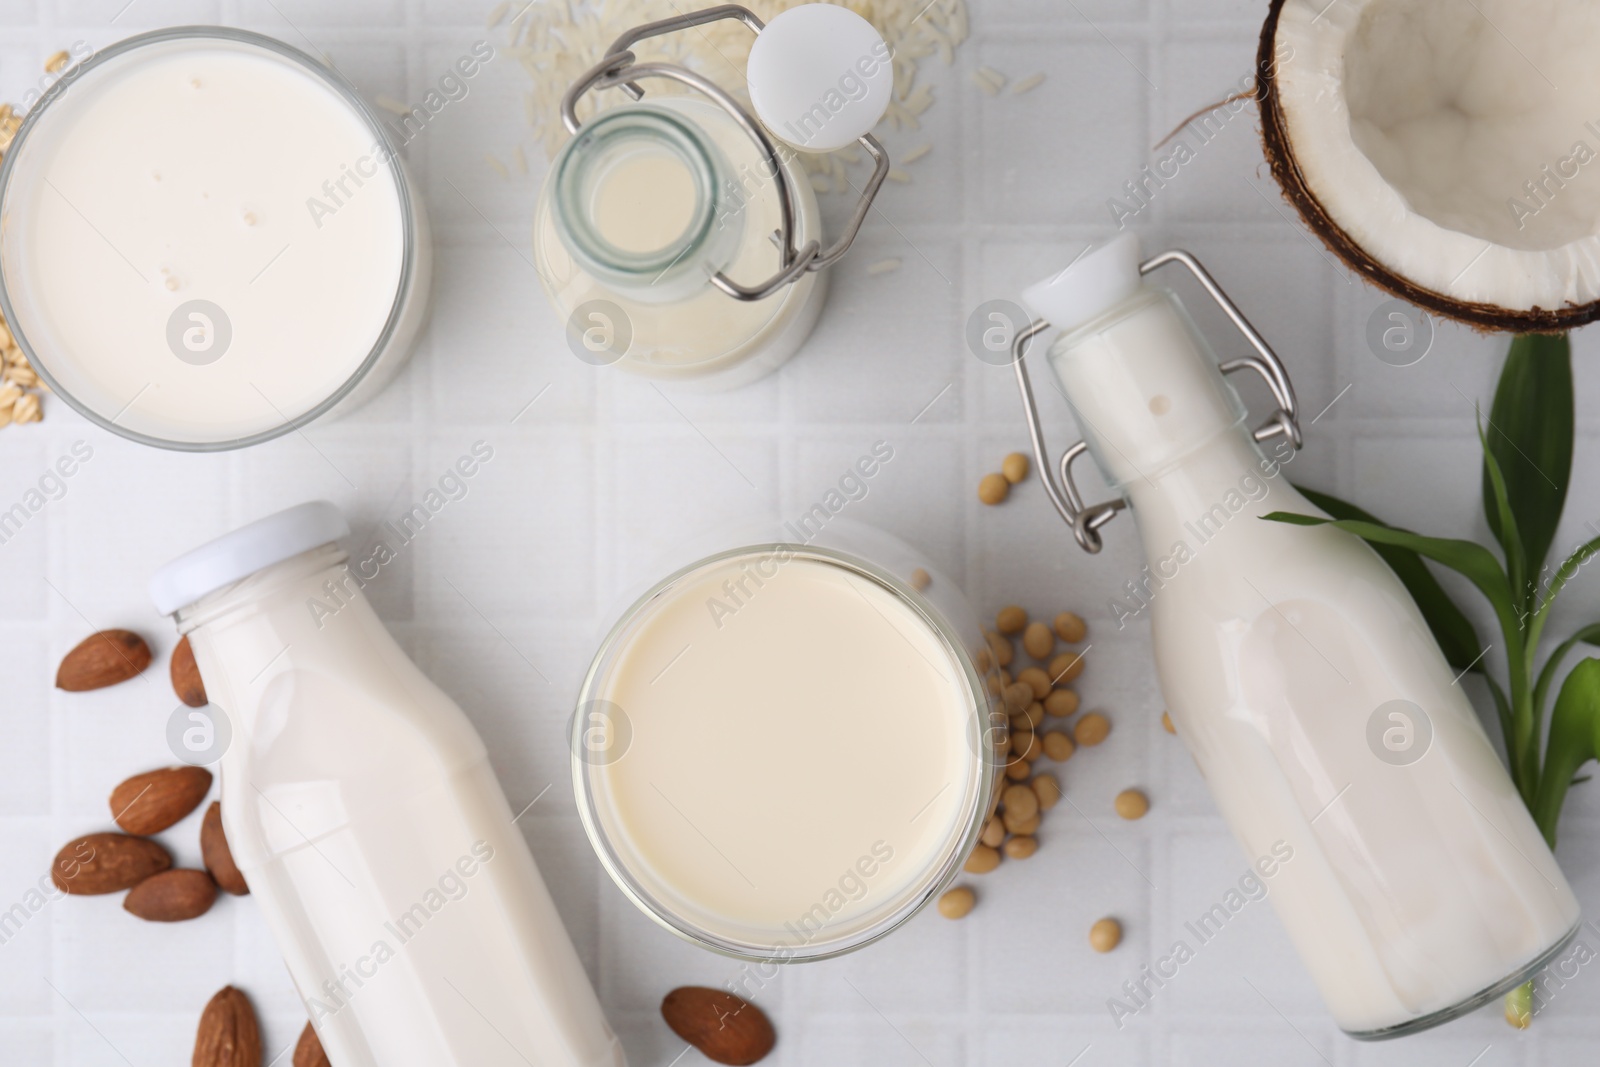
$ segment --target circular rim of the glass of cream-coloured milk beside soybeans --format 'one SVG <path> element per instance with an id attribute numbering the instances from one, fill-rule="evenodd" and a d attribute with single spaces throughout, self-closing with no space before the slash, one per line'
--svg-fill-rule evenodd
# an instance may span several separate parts
<path id="1" fill-rule="evenodd" d="M 856 574 L 861 574 L 862 577 L 867 577 L 874 584 L 880 585 L 901 605 L 909 608 L 918 619 L 922 619 L 922 622 L 944 646 L 946 654 L 957 664 L 958 672 L 965 680 L 966 691 L 963 696 L 968 704 L 968 741 L 976 768 L 976 781 L 971 784 L 970 806 L 957 821 L 957 825 L 962 827 L 960 833 L 952 833 L 946 841 L 947 854 L 939 861 L 939 864 L 936 867 L 930 867 L 922 878 L 914 880 L 907 889 L 898 894 L 893 904 L 885 905 L 883 913 L 877 920 L 870 921 L 858 933 L 840 939 L 803 942 L 798 945 L 762 945 L 757 942 L 725 937 L 688 921 L 674 909 L 656 901 L 642 880 L 634 877 L 627 862 L 613 846 L 611 838 L 600 824 L 592 781 L 595 763 L 579 755 L 582 752 L 584 720 L 578 713 L 578 709 L 582 709 L 594 699 L 595 686 L 610 667 L 610 661 L 618 651 L 618 646 L 627 637 L 632 624 L 651 609 L 661 593 L 667 592 L 690 574 L 707 566 L 739 557 L 773 552 L 789 552 L 790 558 L 813 558 L 821 563 L 854 571 Z M 1000 779 L 998 760 L 994 758 L 994 753 L 986 741 L 992 710 L 987 688 L 982 673 L 978 670 L 973 657 L 966 653 L 960 633 L 931 603 L 923 600 L 910 584 L 901 581 L 893 573 L 851 552 L 842 552 L 838 549 L 827 549 L 821 545 L 762 541 L 723 549 L 674 569 L 670 574 L 640 593 L 606 630 L 605 638 L 595 649 L 595 654 L 584 672 L 584 680 L 573 709 L 568 745 L 571 753 L 573 793 L 578 801 L 578 816 L 584 824 L 584 833 L 589 837 L 589 843 L 594 848 L 595 856 L 600 859 L 600 865 L 605 867 L 611 881 L 616 883 L 616 886 L 629 901 L 634 902 L 635 907 L 669 933 L 688 941 L 690 944 L 710 949 L 718 955 L 747 960 L 752 963 L 810 963 L 814 960 L 830 960 L 869 945 L 886 936 L 890 931 L 898 929 L 912 915 L 926 907 L 928 902 L 936 899 L 938 894 L 960 873 L 962 865 L 966 862 L 966 856 L 973 851 L 973 846 L 978 843 L 978 837 L 982 833 L 984 824 L 989 819 L 990 797 L 994 795 L 995 784 Z M 952 843 L 955 848 L 950 848 Z M 811 944 L 818 944 L 818 947 L 811 949 Z"/>

